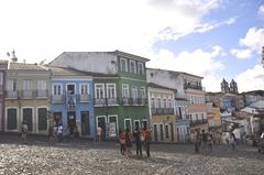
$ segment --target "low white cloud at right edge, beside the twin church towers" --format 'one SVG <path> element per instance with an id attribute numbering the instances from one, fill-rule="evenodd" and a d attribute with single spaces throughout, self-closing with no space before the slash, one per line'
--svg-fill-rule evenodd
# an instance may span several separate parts
<path id="1" fill-rule="evenodd" d="M 264 70 L 261 65 L 255 65 L 235 77 L 239 91 L 264 89 Z"/>

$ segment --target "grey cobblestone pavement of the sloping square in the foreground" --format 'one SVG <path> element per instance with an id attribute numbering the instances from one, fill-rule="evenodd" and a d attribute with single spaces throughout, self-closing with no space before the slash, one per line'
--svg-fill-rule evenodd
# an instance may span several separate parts
<path id="1" fill-rule="evenodd" d="M 134 152 L 133 145 L 133 154 Z M 21 144 L 19 138 L 1 139 L 0 174 L 264 174 L 264 154 L 255 147 L 216 145 L 208 155 L 194 154 L 191 144 L 152 144 L 151 157 L 120 155 L 114 142 L 56 143 L 44 140 Z"/>

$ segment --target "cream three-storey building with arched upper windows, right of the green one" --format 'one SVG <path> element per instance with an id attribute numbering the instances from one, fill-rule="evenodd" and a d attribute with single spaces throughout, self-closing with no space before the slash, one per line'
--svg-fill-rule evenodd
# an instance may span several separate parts
<path id="1" fill-rule="evenodd" d="M 176 141 L 174 99 L 177 90 L 150 83 L 147 91 L 153 141 Z"/>

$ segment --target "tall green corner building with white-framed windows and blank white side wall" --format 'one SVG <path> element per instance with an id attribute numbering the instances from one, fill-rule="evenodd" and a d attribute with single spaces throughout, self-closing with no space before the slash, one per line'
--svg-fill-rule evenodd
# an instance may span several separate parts
<path id="1" fill-rule="evenodd" d="M 106 136 L 116 138 L 119 129 L 148 124 L 147 61 L 120 51 L 64 52 L 51 65 L 98 74 L 94 76 L 96 124 Z"/>

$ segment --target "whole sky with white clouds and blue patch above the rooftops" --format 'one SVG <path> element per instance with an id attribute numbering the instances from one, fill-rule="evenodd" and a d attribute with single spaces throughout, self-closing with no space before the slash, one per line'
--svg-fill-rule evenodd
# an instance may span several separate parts
<path id="1" fill-rule="evenodd" d="M 0 22 L 1 59 L 119 50 L 202 76 L 207 91 L 223 78 L 240 92 L 264 90 L 264 0 L 8 0 Z"/>

